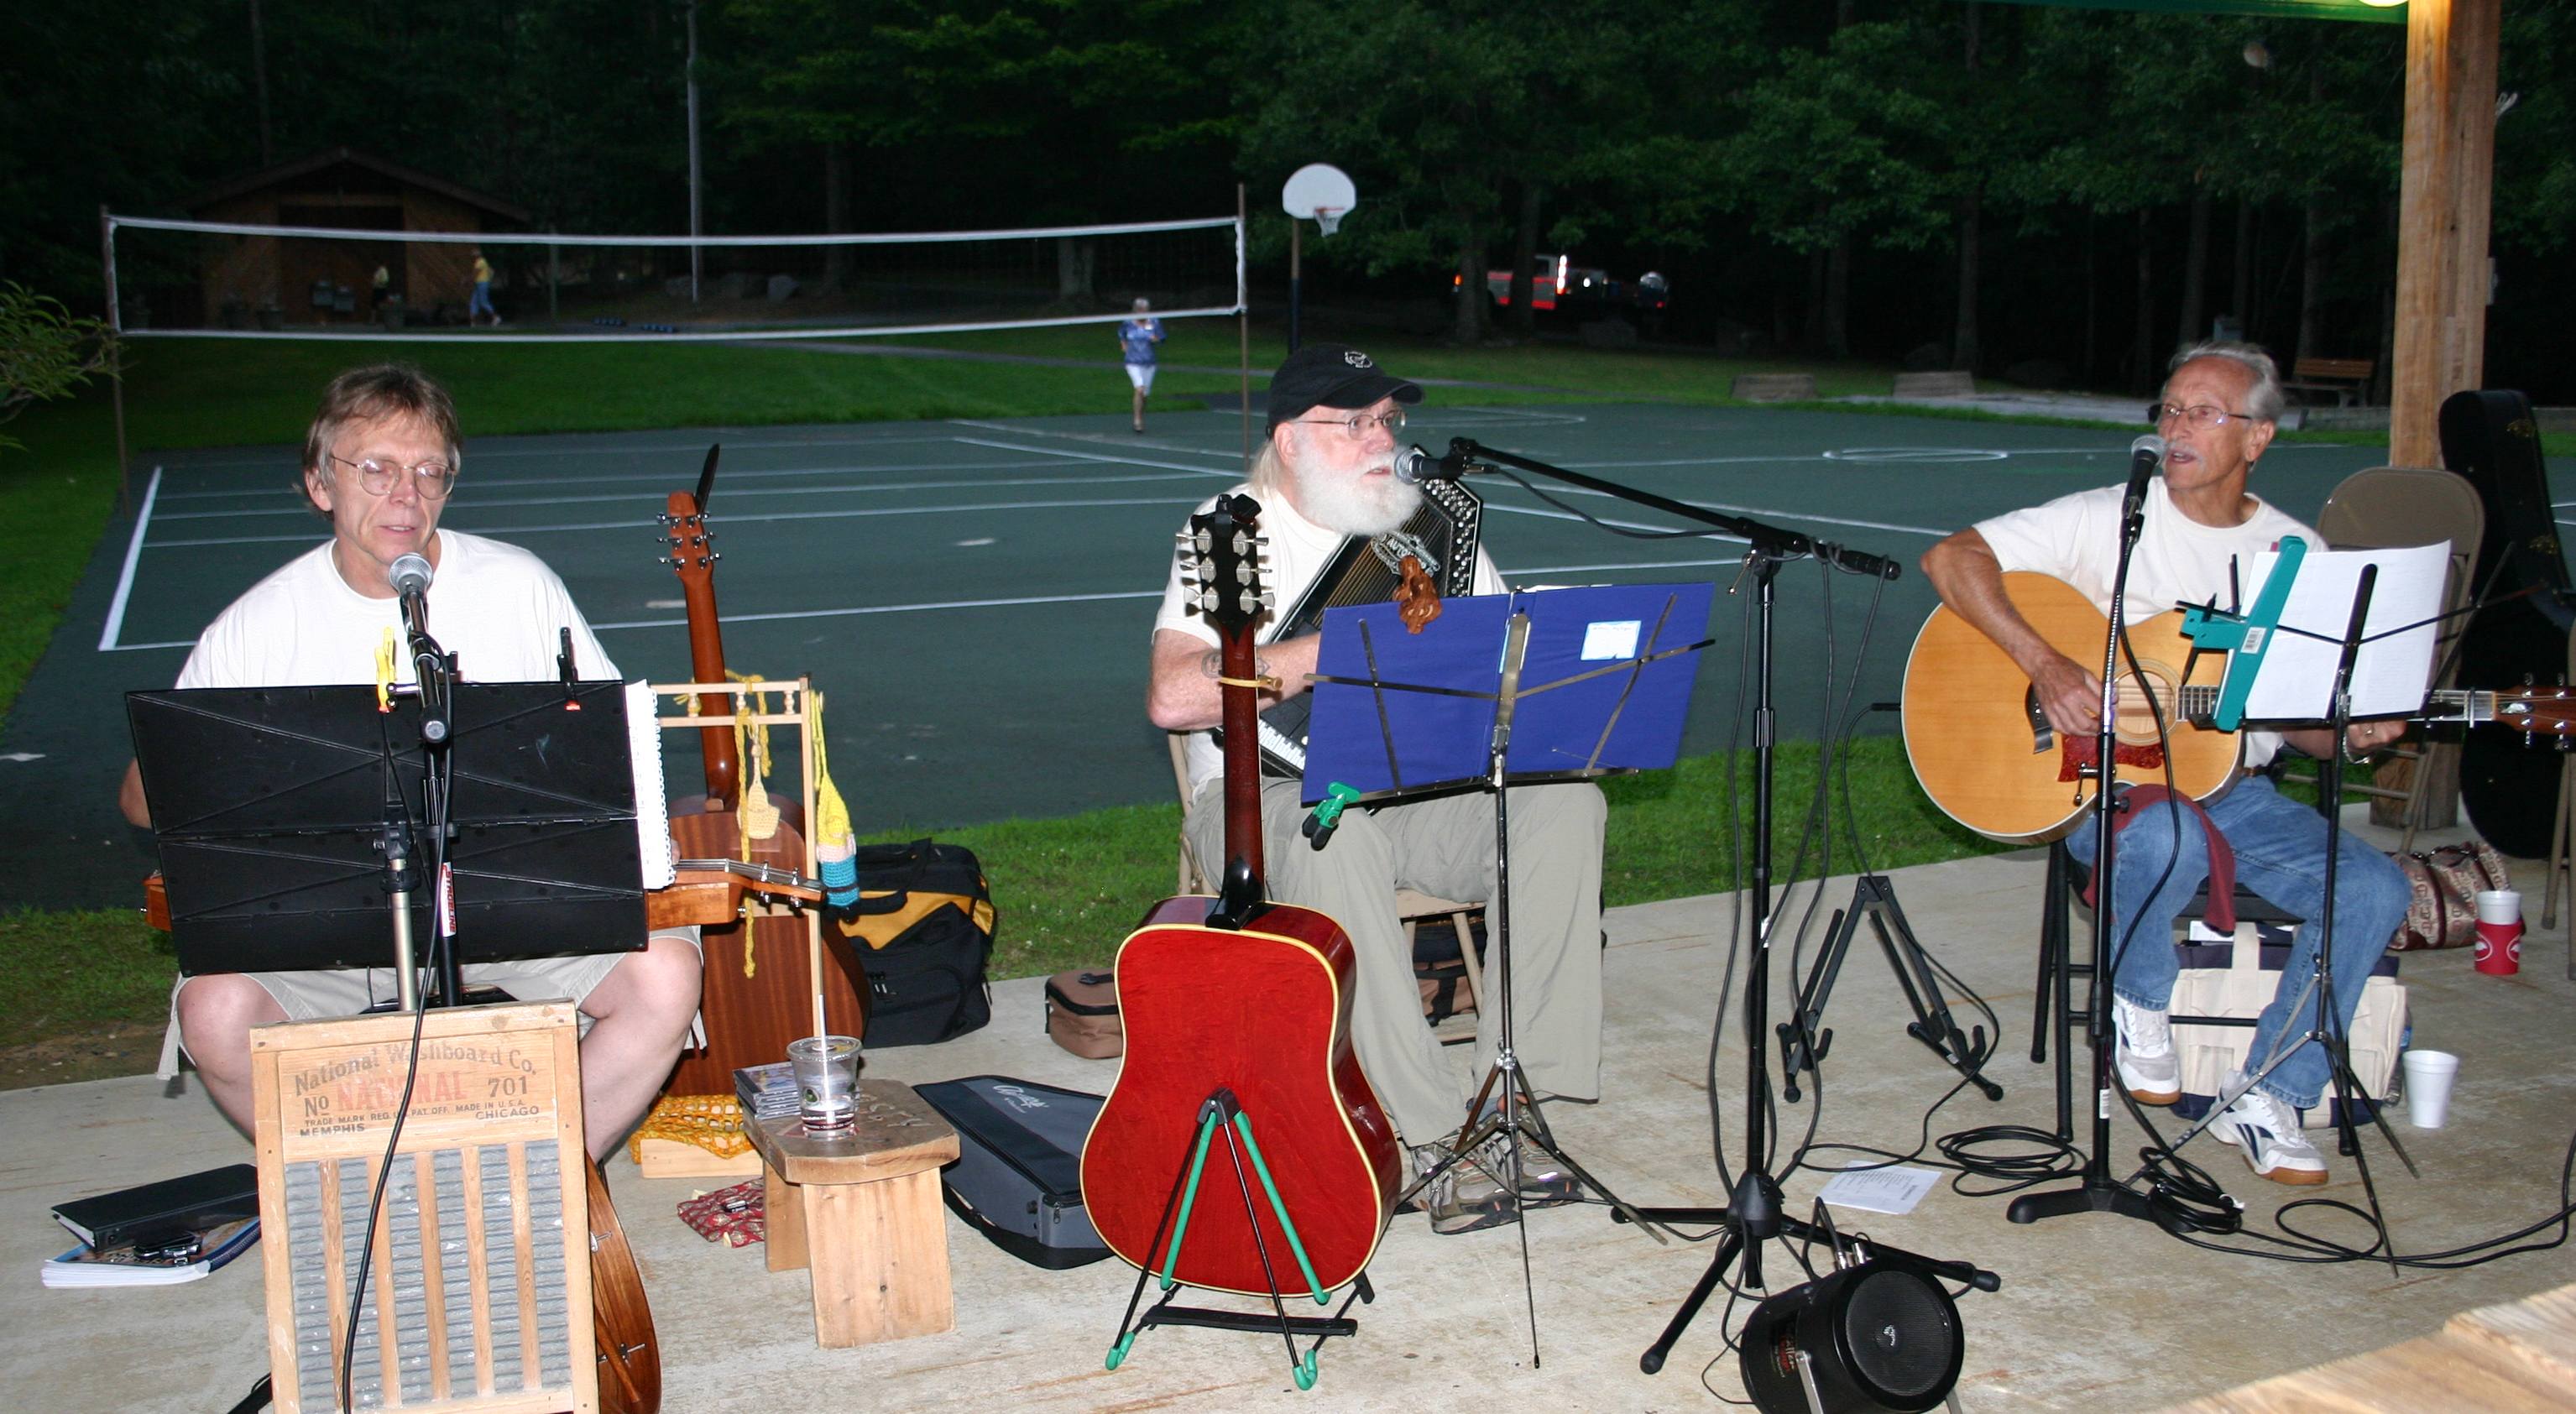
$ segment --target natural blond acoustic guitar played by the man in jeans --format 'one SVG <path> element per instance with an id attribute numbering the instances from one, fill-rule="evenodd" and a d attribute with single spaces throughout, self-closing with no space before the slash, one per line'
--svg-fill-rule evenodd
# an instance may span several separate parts
<path id="1" fill-rule="evenodd" d="M 2027 569 L 2004 574 L 2004 595 L 2053 649 L 2076 659 L 2102 657 L 2102 616 L 2074 585 Z M 2218 731 L 2226 654 L 2190 662 L 2182 610 L 2159 613 L 2128 628 L 2138 667 L 2115 695 L 2117 744 L 2112 773 L 2125 783 L 2166 783 L 2195 801 L 2215 798 L 2236 780 L 2241 739 Z M 2190 677 L 2184 677 L 2190 665 Z M 2514 731 L 2566 737 L 2576 724 L 2576 690 L 2442 690 L 2429 695 L 2419 721 L 2496 721 Z M 2159 737 L 2156 719 L 2166 731 Z M 2094 737 L 2061 737 L 2048 726 L 2030 677 L 2004 649 L 1947 605 L 1935 608 L 1914 636 L 1904 685 L 1906 760 L 1932 804 L 1989 840 L 2035 845 L 2069 834 L 2092 801 Z"/>

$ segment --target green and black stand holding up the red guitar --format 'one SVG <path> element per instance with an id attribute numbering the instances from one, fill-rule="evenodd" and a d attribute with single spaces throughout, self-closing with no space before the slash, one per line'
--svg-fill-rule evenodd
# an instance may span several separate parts
<path id="1" fill-rule="evenodd" d="M 1208 1146 L 1216 1136 L 1226 1136 L 1226 1159 L 1234 1167 L 1234 1190 L 1244 1203 L 1244 1226 L 1252 1229 L 1252 1249 L 1262 1259 L 1262 1283 L 1270 1288 L 1270 1314 L 1257 1311 L 1211 1311 L 1200 1306 L 1172 1306 L 1180 1298 L 1182 1285 L 1172 1280 L 1172 1270 L 1180 1265 L 1180 1244 L 1190 1234 L 1190 1211 L 1198 1205 L 1198 1180 L 1208 1167 Z M 1244 1159 L 1252 1159 L 1252 1174 L 1244 1174 Z M 1368 1272 L 1360 1272 L 1350 1283 L 1350 1296 L 1342 1298 L 1342 1308 L 1332 1316 L 1291 1316 L 1283 1298 L 1278 1267 L 1270 1259 L 1270 1239 L 1262 1236 L 1262 1223 L 1257 1208 L 1252 1205 L 1252 1177 L 1260 1177 L 1262 1192 L 1270 1198 L 1270 1216 L 1278 1218 L 1280 1231 L 1288 1234 L 1288 1252 L 1296 1257 L 1298 1272 L 1306 1277 L 1306 1296 L 1316 1306 L 1329 1306 L 1332 1293 L 1324 1290 L 1314 1275 L 1314 1262 L 1306 1259 L 1306 1244 L 1296 1234 L 1296 1221 L 1288 1218 L 1288 1205 L 1280 1200 L 1280 1190 L 1270 1182 L 1270 1164 L 1262 1159 L 1262 1146 L 1252 1138 L 1252 1115 L 1244 1113 L 1242 1102 L 1231 1089 L 1218 1087 L 1198 1105 L 1198 1138 L 1190 1144 L 1190 1162 L 1172 1180 L 1172 1192 L 1162 1200 L 1162 1218 L 1154 1223 L 1154 1241 L 1146 1247 L 1146 1262 L 1136 1267 L 1136 1290 L 1128 1293 L 1128 1308 L 1118 1316 L 1118 1339 L 1110 1342 L 1105 1365 L 1115 1370 L 1126 1362 L 1128 1350 L 1136 1337 L 1149 1326 L 1208 1326 L 1218 1332 L 1278 1332 L 1280 1342 L 1288 1347 L 1288 1378 L 1296 1388 L 1314 1388 L 1316 1360 L 1324 1350 L 1327 1337 L 1347 1337 L 1360 1332 L 1360 1321 L 1350 1319 L 1352 1301 L 1376 1301 L 1378 1293 L 1368 1285 Z M 1177 1218 L 1175 1218 L 1177 1213 Z M 1164 1249 L 1164 1239 L 1172 1244 Z M 1144 1283 L 1154 1275 L 1154 1252 L 1162 1249 L 1162 1301 L 1146 1308 L 1141 1316 L 1136 1306 L 1144 1301 Z M 1311 1334 L 1314 1344 L 1298 1355 L 1298 1337 Z"/>

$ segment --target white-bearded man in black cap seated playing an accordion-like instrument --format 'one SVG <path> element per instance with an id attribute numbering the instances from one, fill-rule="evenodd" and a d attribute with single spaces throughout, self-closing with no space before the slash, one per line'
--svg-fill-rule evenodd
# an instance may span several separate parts
<path id="1" fill-rule="evenodd" d="M 1422 500 L 1399 482 L 1396 433 L 1422 389 L 1383 373 L 1365 353 L 1311 343 L 1270 379 L 1270 433 L 1252 474 L 1226 495 L 1262 505 L 1262 587 L 1293 605 L 1345 536 L 1383 536 Z M 1198 510 L 1206 513 L 1213 497 Z M 1224 762 L 1211 742 L 1218 706 L 1216 628 L 1182 592 L 1175 556 L 1154 616 L 1154 680 L 1146 716 L 1190 731 L 1193 801 L 1182 829 L 1200 860 L 1221 860 Z M 1504 592 L 1494 561 L 1476 551 L 1479 595 Z M 1275 680 L 1262 708 L 1309 690 L 1321 634 L 1273 641 L 1275 616 L 1257 623 L 1257 677 Z M 1530 1087 L 1548 1097 L 1600 1097 L 1600 858 L 1602 793 L 1589 783 L 1512 788 L 1512 1051 Z M 1358 979 L 1350 1041 L 1370 1089 L 1412 1149 L 1417 1172 L 1437 1162 L 1461 1131 L 1468 1074 L 1484 1077 L 1502 1030 L 1499 1007 L 1479 1004 L 1473 1071 L 1443 1053 L 1422 1017 L 1412 948 L 1396 917 L 1396 889 L 1448 899 L 1494 891 L 1494 801 L 1481 791 L 1347 811 L 1324 850 L 1301 837 L 1298 783 L 1262 783 L 1262 855 L 1270 896 L 1329 914 L 1350 935 Z M 1492 1100 L 1489 1100 L 1492 1105 Z M 1489 1141 L 1425 1192 L 1432 1231 L 1476 1231 L 1515 1221 L 1520 1208 L 1574 1198 L 1569 1174 L 1525 1151 L 1517 1192 L 1504 1144 Z"/>

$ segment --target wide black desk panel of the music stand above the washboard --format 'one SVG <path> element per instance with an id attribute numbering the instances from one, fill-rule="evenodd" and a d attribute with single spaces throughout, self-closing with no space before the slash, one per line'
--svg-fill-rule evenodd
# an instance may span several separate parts
<path id="1" fill-rule="evenodd" d="M 623 683 L 459 683 L 448 713 L 456 963 L 641 948 Z M 433 858 L 438 804 L 415 695 L 173 688 L 126 716 L 183 974 L 394 966 L 389 860 Z M 433 896 L 404 907 L 425 938 Z"/>

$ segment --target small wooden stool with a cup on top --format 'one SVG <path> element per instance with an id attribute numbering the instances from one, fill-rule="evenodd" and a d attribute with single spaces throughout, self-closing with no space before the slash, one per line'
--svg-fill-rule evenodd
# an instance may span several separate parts
<path id="1" fill-rule="evenodd" d="M 858 1123 L 817 1138 L 796 1115 L 744 1120 L 760 1149 L 770 1270 L 814 1270 L 814 1344 L 956 1329 L 940 1164 L 958 1131 L 909 1084 L 858 1082 Z"/>

